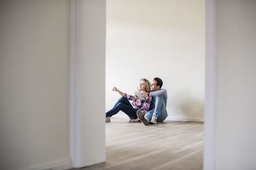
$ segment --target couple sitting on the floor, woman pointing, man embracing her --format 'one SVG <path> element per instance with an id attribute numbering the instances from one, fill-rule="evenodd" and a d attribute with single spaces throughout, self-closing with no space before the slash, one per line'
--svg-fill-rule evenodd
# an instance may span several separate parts
<path id="1" fill-rule="evenodd" d="M 128 115 L 131 119 L 129 122 L 141 121 L 145 125 L 148 125 L 149 122 L 152 124 L 163 122 L 167 117 L 167 91 L 161 89 L 162 85 L 163 81 L 161 78 L 154 78 L 151 85 L 147 79 L 142 78 L 138 92 L 141 93 L 144 99 L 125 94 L 114 87 L 113 90 L 118 92 L 122 97 L 120 97 L 115 106 L 106 113 L 106 122 L 110 122 L 110 117 L 120 110 Z M 132 101 L 132 104 L 129 100 Z"/>

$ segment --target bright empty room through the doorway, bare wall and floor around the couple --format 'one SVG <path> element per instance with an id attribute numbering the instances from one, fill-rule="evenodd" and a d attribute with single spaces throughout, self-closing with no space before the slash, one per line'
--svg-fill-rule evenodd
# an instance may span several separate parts
<path id="1" fill-rule="evenodd" d="M 205 2 L 106 1 L 106 112 L 156 77 L 168 117 L 145 126 L 121 108 L 106 123 L 99 167 L 202 169 L 204 152 Z"/>

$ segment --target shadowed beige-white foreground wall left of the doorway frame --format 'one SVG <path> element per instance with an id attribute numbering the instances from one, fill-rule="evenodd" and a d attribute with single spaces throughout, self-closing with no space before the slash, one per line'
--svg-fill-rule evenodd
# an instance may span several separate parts
<path id="1" fill-rule="evenodd" d="M 69 1 L 1 1 L 0 169 L 70 167 Z"/>

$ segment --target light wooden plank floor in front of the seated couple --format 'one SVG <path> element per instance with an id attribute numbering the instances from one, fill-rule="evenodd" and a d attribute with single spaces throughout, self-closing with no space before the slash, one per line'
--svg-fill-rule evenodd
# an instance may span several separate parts
<path id="1" fill-rule="evenodd" d="M 83 169 L 202 169 L 204 123 L 128 120 L 106 123 L 106 162 Z"/>

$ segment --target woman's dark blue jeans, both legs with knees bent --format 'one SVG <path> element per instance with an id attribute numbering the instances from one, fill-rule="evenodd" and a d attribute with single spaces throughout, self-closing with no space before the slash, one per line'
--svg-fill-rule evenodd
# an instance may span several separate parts
<path id="1" fill-rule="evenodd" d="M 124 111 L 126 115 L 128 115 L 129 118 L 131 119 L 136 119 L 137 117 L 137 110 L 132 107 L 132 104 L 128 101 L 126 97 L 120 97 L 120 99 L 116 102 L 115 106 L 113 109 L 109 110 L 106 113 L 106 117 L 112 117 L 119 111 Z"/>

